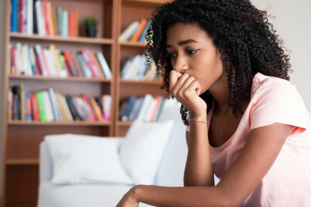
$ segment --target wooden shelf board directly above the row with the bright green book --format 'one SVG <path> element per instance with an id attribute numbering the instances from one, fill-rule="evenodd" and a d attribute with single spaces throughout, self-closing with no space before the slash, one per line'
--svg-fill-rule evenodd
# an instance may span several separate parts
<path id="1" fill-rule="evenodd" d="M 59 77 L 46 77 L 42 75 L 9 75 L 10 79 L 33 79 L 33 80 L 53 80 L 53 81 L 81 81 L 81 82 L 104 82 L 110 83 L 110 79 L 96 79 L 96 78 L 84 78 L 84 77 L 67 77 L 67 78 L 59 78 Z"/>

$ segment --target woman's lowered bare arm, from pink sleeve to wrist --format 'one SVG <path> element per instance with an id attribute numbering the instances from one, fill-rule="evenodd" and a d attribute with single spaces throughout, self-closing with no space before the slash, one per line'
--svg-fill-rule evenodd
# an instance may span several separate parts
<path id="1" fill-rule="evenodd" d="M 240 206 L 267 174 L 292 128 L 274 123 L 251 130 L 242 151 L 215 187 L 138 185 L 133 197 L 161 207 Z"/>

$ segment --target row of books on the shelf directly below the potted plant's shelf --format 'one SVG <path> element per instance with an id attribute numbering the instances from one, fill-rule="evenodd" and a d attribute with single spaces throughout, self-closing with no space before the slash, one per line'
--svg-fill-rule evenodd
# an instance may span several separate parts
<path id="1" fill-rule="evenodd" d="M 112 73 L 102 52 L 89 49 L 60 51 L 50 44 L 42 48 L 39 44 L 16 46 L 9 44 L 8 74 L 43 75 L 53 77 L 85 77 L 111 79 Z"/>

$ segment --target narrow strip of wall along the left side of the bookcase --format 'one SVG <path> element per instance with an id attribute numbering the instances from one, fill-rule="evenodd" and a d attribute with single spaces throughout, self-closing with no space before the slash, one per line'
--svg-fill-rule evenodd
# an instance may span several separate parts
<path id="1" fill-rule="evenodd" d="M 0 0 L 0 206 L 2 206 L 2 166 L 3 166 L 3 81 L 5 42 L 5 1 Z"/>

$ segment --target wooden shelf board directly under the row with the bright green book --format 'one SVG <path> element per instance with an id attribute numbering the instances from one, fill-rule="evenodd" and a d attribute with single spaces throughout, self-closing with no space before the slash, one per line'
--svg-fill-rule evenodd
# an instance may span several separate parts
<path id="1" fill-rule="evenodd" d="M 52 125 L 52 126 L 110 126 L 109 121 L 51 121 L 51 122 L 41 122 L 41 121 L 8 121 L 8 125 Z"/>

